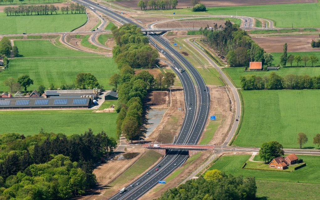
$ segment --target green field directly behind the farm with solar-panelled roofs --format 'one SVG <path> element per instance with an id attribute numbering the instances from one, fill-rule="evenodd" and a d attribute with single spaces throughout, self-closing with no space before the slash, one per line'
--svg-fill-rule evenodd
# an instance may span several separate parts
<path id="1" fill-rule="evenodd" d="M 62 84 L 72 84 L 76 81 L 76 76 L 81 73 L 91 73 L 104 89 L 111 89 L 109 78 L 119 70 L 113 58 L 30 58 L 30 59 L 11 59 L 10 67 L 0 73 L 0 80 L 28 74 L 34 84 L 28 90 L 36 90 L 39 85 L 49 87 L 53 83 L 60 87 Z M 0 91 L 8 91 L 0 81 Z"/>

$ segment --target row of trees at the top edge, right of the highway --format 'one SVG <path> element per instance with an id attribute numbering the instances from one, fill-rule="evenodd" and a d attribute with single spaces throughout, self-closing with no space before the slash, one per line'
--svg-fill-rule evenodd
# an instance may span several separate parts
<path id="1" fill-rule="evenodd" d="M 165 9 L 176 9 L 178 0 L 140 0 L 138 6 L 141 10 L 165 10 Z"/>

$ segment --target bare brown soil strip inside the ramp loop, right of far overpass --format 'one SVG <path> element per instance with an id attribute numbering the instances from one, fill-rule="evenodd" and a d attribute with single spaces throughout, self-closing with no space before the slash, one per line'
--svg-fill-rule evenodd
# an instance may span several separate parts
<path id="1" fill-rule="evenodd" d="M 201 28 L 201 27 L 213 27 L 214 23 L 224 25 L 225 20 L 178 20 L 178 21 L 168 21 L 165 23 L 155 25 L 156 28 Z M 233 22 L 232 22 L 233 23 Z"/>

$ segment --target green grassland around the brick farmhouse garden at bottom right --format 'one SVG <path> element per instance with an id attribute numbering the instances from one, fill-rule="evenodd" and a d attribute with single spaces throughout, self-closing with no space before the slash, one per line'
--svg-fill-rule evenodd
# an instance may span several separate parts
<path id="1" fill-rule="evenodd" d="M 281 200 L 299 194 L 299 199 L 316 200 L 320 190 L 320 156 L 298 155 L 307 166 L 294 172 L 269 172 L 244 170 L 242 165 L 250 155 L 222 156 L 209 170 L 218 169 L 226 174 L 244 177 L 254 176 L 257 184 L 257 196 L 261 199 Z"/>

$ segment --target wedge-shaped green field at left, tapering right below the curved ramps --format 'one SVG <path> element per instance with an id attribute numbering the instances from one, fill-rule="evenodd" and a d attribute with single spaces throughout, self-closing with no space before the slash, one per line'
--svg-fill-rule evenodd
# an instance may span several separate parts
<path id="1" fill-rule="evenodd" d="M 26 58 L 101 56 L 94 53 L 60 48 L 52 44 L 50 40 L 15 40 L 14 45 L 18 47 L 21 57 Z"/>

